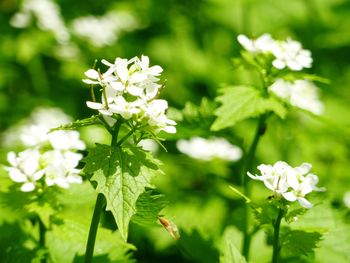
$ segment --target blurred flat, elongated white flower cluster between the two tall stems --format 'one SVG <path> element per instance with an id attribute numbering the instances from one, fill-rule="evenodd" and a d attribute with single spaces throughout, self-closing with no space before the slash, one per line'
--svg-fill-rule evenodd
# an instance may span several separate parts
<path id="1" fill-rule="evenodd" d="M 229 143 L 224 138 L 211 137 L 209 139 L 193 137 L 190 140 L 179 140 L 178 150 L 191 158 L 213 160 L 215 158 L 226 161 L 237 161 L 242 157 L 242 150 Z"/>

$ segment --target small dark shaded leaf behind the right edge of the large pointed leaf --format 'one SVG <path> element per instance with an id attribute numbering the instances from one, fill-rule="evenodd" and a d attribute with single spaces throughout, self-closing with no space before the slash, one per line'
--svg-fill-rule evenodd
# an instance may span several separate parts
<path id="1" fill-rule="evenodd" d="M 139 225 L 156 225 L 159 212 L 166 206 L 163 195 L 152 195 L 147 191 L 140 195 L 136 202 L 136 214 L 131 221 Z"/>

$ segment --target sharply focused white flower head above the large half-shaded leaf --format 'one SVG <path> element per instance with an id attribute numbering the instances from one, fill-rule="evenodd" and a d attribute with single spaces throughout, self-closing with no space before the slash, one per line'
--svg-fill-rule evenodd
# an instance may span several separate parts
<path id="1" fill-rule="evenodd" d="M 130 60 L 116 58 L 113 64 L 102 60 L 102 63 L 109 67 L 105 73 L 95 69 L 85 72 L 89 79 L 83 82 L 103 88 L 102 102 L 88 101 L 89 108 L 105 116 L 118 115 L 125 120 L 147 124 L 155 133 L 161 130 L 176 132 L 176 122 L 165 115 L 168 102 L 156 99 L 162 87 L 157 83 L 163 71 L 160 66 L 150 67 L 147 56 Z"/>

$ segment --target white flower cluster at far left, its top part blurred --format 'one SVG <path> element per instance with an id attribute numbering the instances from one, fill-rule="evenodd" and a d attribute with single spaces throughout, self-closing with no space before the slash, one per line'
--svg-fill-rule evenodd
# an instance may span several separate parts
<path id="1" fill-rule="evenodd" d="M 84 150 L 85 144 L 79 139 L 77 131 L 53 131 L 62 124 L 62 119 L 55 121 L 55 114 L 69 119 L 63 112 L 57 109 L 44 109 L 35 111 L 31 120 L 33 123 L 24 125 L 21 129 L 20 140 L 28 146 L 26 150 L 16 154 L 9 152 L 7 160 L 11 166 L 6 166 L 10 178 L 17 183 L 22 183 L 21 191 L 33 191 L 38 184 L 47 186 L 57 185 L 68 188 L 70 183 L 81 183 L 80 170 L 76 169 L 82 154 L 78 150 Z M 42 121 L 42 122 L 41 122 Z M 51 126 L 52 124 L 56 124 Z"/>

